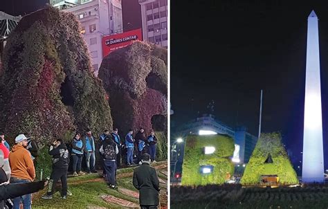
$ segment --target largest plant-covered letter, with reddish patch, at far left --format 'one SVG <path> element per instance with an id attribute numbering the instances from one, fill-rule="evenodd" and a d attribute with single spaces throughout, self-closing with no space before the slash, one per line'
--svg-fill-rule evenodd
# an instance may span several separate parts
<path id="1" fill-rule="evenodd" d="M 26 133 L 43 145 L 74 129 L 111 129 L 105 91 L 92 71 L 73 14 L 45 8 L 24 16 L 3 53 L 0 127 L 9 139 Z"/>

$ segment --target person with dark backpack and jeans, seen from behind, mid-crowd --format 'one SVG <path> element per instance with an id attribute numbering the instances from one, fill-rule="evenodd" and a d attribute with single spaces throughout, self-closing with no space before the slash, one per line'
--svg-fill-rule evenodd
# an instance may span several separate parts
<path id="1" fill-rule="evenodd" d="M 111 136 L 107 136 L 100 147 L 100 153 L 104 159 L 104 169 L 107 175 L 107 184 L 111 188 L 116 185 L 116 155 L 118 154 L 118 146 L 112 140 Z"/>

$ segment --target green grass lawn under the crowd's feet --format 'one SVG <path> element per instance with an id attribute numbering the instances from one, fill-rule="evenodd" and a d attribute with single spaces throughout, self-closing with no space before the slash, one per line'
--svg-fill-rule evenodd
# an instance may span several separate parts
<path id="1" fill-rule="evenodd" d="M 152 166 L 163 165 L 167 162 L 156 163 Z M 163 167 L 163 166 L 162 166 Z M 134 185 L 132 185 L 132 177 L 135 167 L 123 168 L 118 170 L 117 174 L 128 174 L 128 177 L 123 176 L 122 178 L 116 179 L 118 188 L 125 188 L 128 190 L 136 191 Z M 167 170 L 167 167 L 163 167 L 160 170 Z M 158 170 L 158 174 L 159 170 Z M 162 179 L 167 179 L 167 176 L 162 176 Z M 60 198 L 60 192 L 55 192 L 53 199 L 42 199 L 42 194 L 46 193 L 46 189 L 41 192 L 35 193 L 33 198 L 33 208 L 88 208 L 88 207 L 103 207 L 103 208 L 125 208 L 123 206 L 116 205 L 115 203 L 107 203 L 102 200 L 103 194 L 111 194 L 114 197 L 131 201 L 138 205 L 138 199 L 129 197 L 126 194 L 118 192 L 118 190 L 110 189 L 104 180 L 100 177 L 100 174 L 88 174 L 84 176 L 76 176 L 68 179 L 69 190 L 72 192 L 72 196 L 67 199 Z M 161 195 L 165 195 L 167 188 L 161 184 L 162 192 Z M 60 188 L 59 188 L 60 189 Z M 165 198 L 161 198 L 165 199 Z M 167 203 L 161 203 L 162 206 L 167 206 Z"/>

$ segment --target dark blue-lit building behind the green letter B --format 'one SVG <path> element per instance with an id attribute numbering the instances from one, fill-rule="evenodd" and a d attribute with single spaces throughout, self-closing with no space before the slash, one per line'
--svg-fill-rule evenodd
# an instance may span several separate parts
<path id="1" fill-rule="evenodd" d="M 234 161 L 236 165 L 242 165 L 248 163 L 250 155 L 252 154 L 255 145 L 257 143 L 257 137 L 249 134 L 246 131 L 246 127 L 237 127 L 233 129 L 228 125 L 225 125 L 219 120 L 215 120 L 215 116 L 211 114 L 204 114 L 203 116 L 187 122 L 182 127 L 176 129 L 176 136 L 184 137 L 189 134 L 199 134 L 199 131 L 212 131 L 217 134 L 226 134 L 235 140 L 235 147 L 239 148 L 237 156 L 234 157 L 237 161 Z M 172 140 L 175 140 L 176 136 L 172 136 Z M 172 144 L 173 142 L 171 142 Z M 184 144 L 176 145 L 176 157 L 178 163 L 176 163 L 176 170 L 179 172 L 179 167 L 183 163 Z M 180 167 L 181 168 L 181 167 Z"/>

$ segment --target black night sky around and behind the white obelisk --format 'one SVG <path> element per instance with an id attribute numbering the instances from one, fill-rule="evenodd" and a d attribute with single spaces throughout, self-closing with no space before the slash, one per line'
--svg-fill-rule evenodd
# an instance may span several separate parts
<path id="1" fill-rule="evenodd" d="M 265 2 L 265 3 L 264 3 Z M 322 1 L 323 2 L 323 1 Z M 212 112 L 257 136 L 280 131 L 301 161 L 307 17 L 319 18 L 322 120 L 328 145 L 328 3 L 171 1 L 171 104 L 174 125 Z M 328 149 L 325 148 L 328 169 Z"/>

